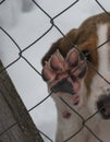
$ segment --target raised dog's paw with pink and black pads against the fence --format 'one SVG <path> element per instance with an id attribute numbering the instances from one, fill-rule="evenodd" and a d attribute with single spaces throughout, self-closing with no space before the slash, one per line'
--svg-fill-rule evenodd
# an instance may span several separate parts
<path id="1" fill-rule="evenodd" d="M 42 69 L 42 78 L 54 93 L 68 92 L 75 94 L 80 91 L 81 81 L 86 74 L 86 61 L 80 52 L 73 48 L 64 59 L 59 50 L 46 61 Z"/>

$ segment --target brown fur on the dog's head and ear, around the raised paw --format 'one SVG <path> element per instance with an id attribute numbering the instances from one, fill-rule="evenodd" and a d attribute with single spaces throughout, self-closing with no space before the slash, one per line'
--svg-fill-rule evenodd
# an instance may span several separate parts
<path id="1" fill-rule="evenodd" d="M 90 61 L 87 61 L 88 63 L 88 70 L 85 78 L 85 83 L 87 86 L 87 94 L 90 92 L 90 84 L 93 81 L 93 78 L 95 75 L 95 71 L 93 70 L 91 66 L 95 67 L 95 69 L 98 69 L 98 52 L 96 50 L 97 44 L 98 44 L 98 37 L 97 37 L 97 26 L 98 24 L 103 24 L 110 22 L 110 16 L 106 13 L 98 14 L 96 16 L 91 16 L 87 19 L 80 28 L 75 29 L 73 28 L 70 31 L 65 37 L 60 38 L 57 43 L 54 43 L 49 51 L 45 55 L 45 57 L 41 60 L 42 66 L 45 64 L 45 61 L 48 61 L 50 56 L 59 49 L 60 52 L 63 55 L 63 57 L 66 56 L 70 49 L 74 48 L 73 45 L 76 45 L 80 51 L 89 51 L 90 52 Z M 110 29 L 110 26 L 109 26 Z M 110 38 L 110 32 L 108 33 L 108 37 Z M 91 62 L 91 64 L 90 64 Z"/>

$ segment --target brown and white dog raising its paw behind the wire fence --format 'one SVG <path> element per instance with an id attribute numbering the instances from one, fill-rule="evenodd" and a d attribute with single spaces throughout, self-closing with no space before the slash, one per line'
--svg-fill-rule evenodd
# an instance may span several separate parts
<path id="1" fill-rule="evenodd" d="M 110 16 L 88 17 L 42 57 L 58 111 L 56 142 L 110 142 Z"/>

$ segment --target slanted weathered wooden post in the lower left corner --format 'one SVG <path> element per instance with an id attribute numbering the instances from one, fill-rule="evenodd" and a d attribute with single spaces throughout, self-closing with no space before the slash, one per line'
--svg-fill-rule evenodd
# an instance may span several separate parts
<path id="1" fill-rule="evenodd" d="M 44 142 L 7 71 L 0 73 L 0 142 Z"/>

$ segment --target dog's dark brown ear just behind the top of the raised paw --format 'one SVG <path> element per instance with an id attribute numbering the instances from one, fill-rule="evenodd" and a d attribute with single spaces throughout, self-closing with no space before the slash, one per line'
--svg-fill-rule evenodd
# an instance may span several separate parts
<path id="1" fill-rule="evenodd" d="M 65 37 L 60 38 L 58 39 L 58 42 L 52 44 L 50 49 L 44 56 L 41 60 L 41 64 L 44 66 L 45 61 L 48 61 L 51 55 L 53 55 L 57 51 L 57 49 L 59 49 L 59 51 L 63 57 L 66 57 L 69 50 L 74 47 L 76 34 L 77 34 L 77 29 L 73 28 L 65 35 Z"/>

